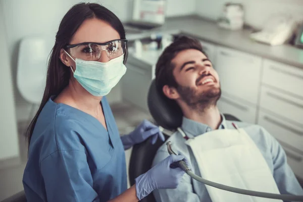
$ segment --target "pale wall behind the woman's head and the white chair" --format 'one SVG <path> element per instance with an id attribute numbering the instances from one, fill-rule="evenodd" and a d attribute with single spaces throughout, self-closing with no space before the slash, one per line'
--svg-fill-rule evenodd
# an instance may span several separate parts
<path id="1" fill-rule="evenodd" d="M 188 15 L 195 11 L 195 0 L 167 0 L 167 16 Z M 17 119 L 28 119 L 30 104 L 16 87 L 17 57 L 20 40 L 33 34 L 50 34 L 55 38 L 59 23 L 68 9 L 79 2 L 97 2 L 113 11 L 122 21 L 132 15 L 133 0 L 0 0 L 4 15 L 9 58 L 13 72 Z M 178 5 L 178 6 L 176 6 Z M 3 31 L 3 30 L 2 30 Z M 115 87 L 108 96 L 110 102 L 121 100 L 120 87 Z"/>

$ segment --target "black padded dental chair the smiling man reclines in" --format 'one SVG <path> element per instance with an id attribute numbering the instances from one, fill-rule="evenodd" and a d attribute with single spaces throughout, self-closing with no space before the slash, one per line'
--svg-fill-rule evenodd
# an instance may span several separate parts
<path id="1" fill-rule="evenodd" d="M 150 84 L 147 105 L 151 116 L 153 116 L 157 125 L 174 132 L 182 124 L 182 112 L 179 106 L 173 101 L 167 98 L 156 87 L 155 80 Z M 224 114 L 226 120 L 240 121 L 236 117 Z M 169 138 L 164 134 L 165 140 Z M 154 157 L 156 156 L 158 148 L 164 142 L 159 138 L 153 145 L 150 143 L 150 138 L 146 141 L 133 146 L 130 162 L 129 162 L 129 181 L 130 185 L 135 184 L 135 178 L 141 174 L 147 172 L 153 164 Z M 147 197 L 141 200 L 142 202 L 156 202 L 153 193 L 150 193 Z"/>

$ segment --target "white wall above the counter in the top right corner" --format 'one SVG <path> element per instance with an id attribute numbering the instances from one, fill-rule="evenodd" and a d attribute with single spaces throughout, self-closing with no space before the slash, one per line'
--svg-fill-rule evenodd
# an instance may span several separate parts
<path id="1" fill-rule="evenodd" d="M 221 14 L 226 0 L 196 0 L 198 15 L 217 20 Z M 303 19 L 302 0 L 234 0 L 241 3 L 245 11 L 245 23 L 255 28 L 262 28 L 265 20 L 274 13 L 289 12 L 298 19 Z"/>

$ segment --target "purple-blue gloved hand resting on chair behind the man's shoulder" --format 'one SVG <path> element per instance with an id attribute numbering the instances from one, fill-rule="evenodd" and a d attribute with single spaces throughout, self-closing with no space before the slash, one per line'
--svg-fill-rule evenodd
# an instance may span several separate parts
<path id="1" fill-rule="evenodd" d="M 158 137 L 162 141 L 165 140 L 163 133 L 160 131 L 158 126 L 155 126 L 153 123 L 143 120 L 136 129 L 130 132 L 128 135 L 121 136 L 121 140 L 124 146 L 124 149 L 132 147 L 134 144 L 143 142 L 148 137 L 153 136 L 151 143 L 155 144 Z"/>

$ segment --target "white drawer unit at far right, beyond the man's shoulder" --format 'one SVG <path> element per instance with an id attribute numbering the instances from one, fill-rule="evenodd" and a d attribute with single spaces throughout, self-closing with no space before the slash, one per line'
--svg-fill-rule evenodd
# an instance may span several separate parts
<path id="1" fill-rule="evenodd" d="M 258 124 L 282 145 L 287 163 L 303 179 L 303 70 L 264 60 Z"/>

